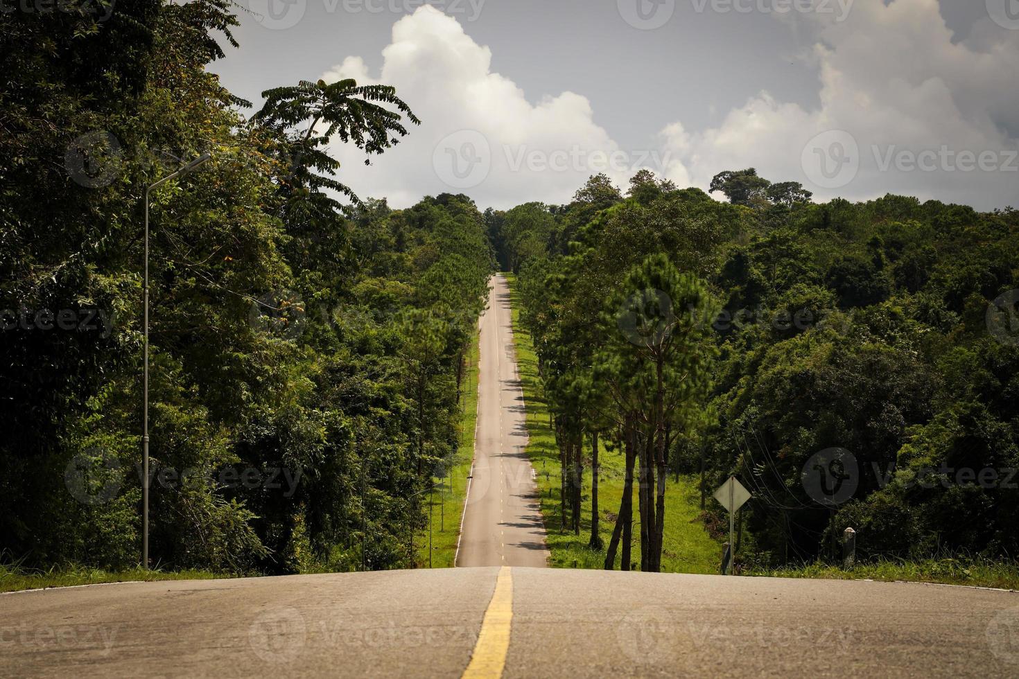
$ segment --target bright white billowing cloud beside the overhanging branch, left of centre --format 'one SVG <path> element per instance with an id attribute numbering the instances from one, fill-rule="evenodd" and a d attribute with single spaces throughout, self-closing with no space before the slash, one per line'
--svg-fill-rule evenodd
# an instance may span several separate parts
<path id="1" fill-rule="evenodd" d="M 513 80 L 492 72 L 487 47 L 430 6 L 393 25 L 382 56 L 378 77 L 359 57 L 323 75 L 392 84 L 423 121 L 368 167 L 356 150 L 334 149 L 341 179 L 362 196 L 386 196 L 397 207 L 444 191 L 465 192 L 482 208 L 562 203 L 591 174 L 604 170 L 622 183 L 631 165 L 652 162 L 622 156 L 585 97 L 565 92 L 529 102 Z"/>

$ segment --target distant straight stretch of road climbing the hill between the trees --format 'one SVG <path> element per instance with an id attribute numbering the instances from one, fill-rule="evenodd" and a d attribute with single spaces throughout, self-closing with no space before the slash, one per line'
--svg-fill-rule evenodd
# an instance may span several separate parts
<path id="1" fill-rule="evenodd" d="M 480 325 L 478 430 L 457 565 L 544 566 L 548 549 L 534 469 L 524 452 L 524 392 L 502 276 L 489 282 Z"/>

